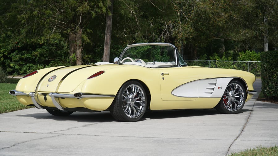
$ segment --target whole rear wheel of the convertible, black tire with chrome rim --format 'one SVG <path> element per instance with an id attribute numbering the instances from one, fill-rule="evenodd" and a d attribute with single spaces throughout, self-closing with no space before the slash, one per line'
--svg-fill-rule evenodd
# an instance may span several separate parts
<path id="1" fill-rule="evenodd" d="M 137 81 L 128 81 L 117 93 L 110 106 L 112 117 L 118 121 L 134 122 L 141 119 L 147 108 L 147 94 Z"/>

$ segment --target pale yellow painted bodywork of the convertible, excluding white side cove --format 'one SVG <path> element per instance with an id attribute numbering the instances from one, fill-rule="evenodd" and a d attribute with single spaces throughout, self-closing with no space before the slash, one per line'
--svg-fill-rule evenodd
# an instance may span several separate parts
<path id="1" fill-rule="evenodd" d="M 86 67 L 86 68 L 83 68 Z M 201 67 L 173 67 L 173 68 L 147 68 L 139 65 L 82 65 L 71 66 L 58 69 L 46 68 L 38 70 L 33 76 L 23 78 L 19 81 L 16 90 L 24 93 L 37 92 L 46 93 L 67 93 L 74 94 L 78 92 L 117 95 L 121 86 L 129 80 L 137 80 L 146 86 L 145 90 L 150 92 L 150 109 L 198 109 L 213 108 L 220 101 L 221 97 L 178 97 L 171 92 L 178 86 L 199 79 L 234 77 L 244 80 L 248 90 L 253 90 L 255 76 L 249 72 L 214 69 Z M 79 69 L 78 68 L 82 68 Z M 71 71 L 76 70 L 76 72 Z M 103 74 L 87 79 L 96 72 L 104 71 Z M 48 73 L 50 72 L 50 73 Z M 48 74 L 47 74 L 48 73 Z M 161 73 L 166 73 L 161 75 Z M 68 75 L 67 75 L 68 74 Z M 41 80 L 42 76 L 45 77 Z M 56 79 L 49 82 L 48 79 L 56 75 Z M 65 77 L 64 80 L 61 79 Z M 41 80 L 41 82 L 39 82 Z M 37 86 L 38 85 L 38 86 Z M 50 96 L 38 95 L 36 100 L 42 106 L 55 107 Z M 251 95 L 247 96 L 247 100 Z M 17 96 L 17 99 L 23 105 L 33 104 L 30 96 Z M 95 111 L 102 111 L 109 108 L 114 97 L 95 97 L 95 98 L 58 98 L 57 101 L 64 108 L 83 107 Z"/>

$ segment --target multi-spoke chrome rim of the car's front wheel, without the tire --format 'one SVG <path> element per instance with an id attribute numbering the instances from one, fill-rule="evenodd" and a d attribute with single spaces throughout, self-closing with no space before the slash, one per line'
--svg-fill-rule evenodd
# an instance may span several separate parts
<path id="1" fill-rule="evenodd" d="M 229 111 L 237 111 L 244 103 L 244 91 L 237 83 L 227 86 L 223 94 L 223 103 Z"/>

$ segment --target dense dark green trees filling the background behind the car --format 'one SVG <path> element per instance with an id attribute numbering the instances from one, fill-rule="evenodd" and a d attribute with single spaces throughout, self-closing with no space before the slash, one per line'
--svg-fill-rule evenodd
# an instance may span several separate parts
<path id="1" fill-rule="evenodd" d="M 110 62 L 140 42 L 173 43 L 185 60 L 258 60 L 258 52 L 278 47 L 277 3 L 114 1 Z M 102 61 L 109 6 L 111 0 L 1 0 L 0 66 L 23 75 Z"/>

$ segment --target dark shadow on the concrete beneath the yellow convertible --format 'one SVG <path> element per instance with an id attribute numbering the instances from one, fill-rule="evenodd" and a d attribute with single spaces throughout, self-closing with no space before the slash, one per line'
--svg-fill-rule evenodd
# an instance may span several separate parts
<path id="1" fill-rule="evenodd" d="M 252 110 L 242 109 L 242 112 L 250 112 Z M 146 119 L 167 119 L 167 118 L 178 118 L 178 117 L 196 117 L 196 116 L 208 116 L 220 114 L 216 109 L 186 109 L 186 110 L 171 110 L 171 111 L 154 111 L 146 112 L 140 121 Z M 116 121 L 110 112 L 74 112 L 70 116 L 53 116 L 48 112 L 45 113 L 33 113 L 18 115 L 19 117 L 34 117 L 36 119 L 50 119 L 56 121 L 78 121 L 78 122 L 112 122 Z"/>

